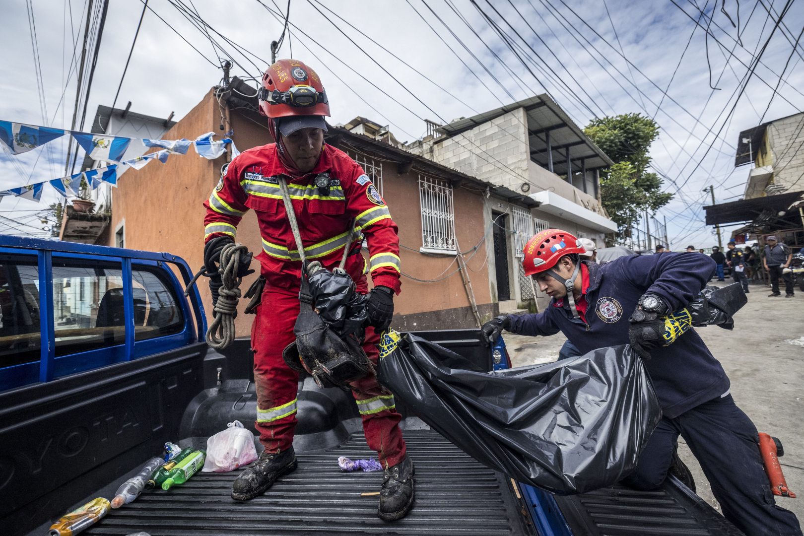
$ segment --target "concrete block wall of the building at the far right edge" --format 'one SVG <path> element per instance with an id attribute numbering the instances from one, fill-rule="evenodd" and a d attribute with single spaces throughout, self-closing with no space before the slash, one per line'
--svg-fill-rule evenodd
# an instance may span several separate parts
<path id="1" fill-rule="evenodd" d="M 804 113 L 773 121 L 767 136 L 773 158 L 773 183 L 790 191 L 804 189 Z"/>

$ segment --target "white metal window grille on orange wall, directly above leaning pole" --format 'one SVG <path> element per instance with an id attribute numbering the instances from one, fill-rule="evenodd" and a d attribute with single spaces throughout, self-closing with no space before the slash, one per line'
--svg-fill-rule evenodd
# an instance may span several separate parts
<path id="1" fill-rule="evenodd" d="M 452 186 L 419 175 L 423 248 L 456 251 Z"/>

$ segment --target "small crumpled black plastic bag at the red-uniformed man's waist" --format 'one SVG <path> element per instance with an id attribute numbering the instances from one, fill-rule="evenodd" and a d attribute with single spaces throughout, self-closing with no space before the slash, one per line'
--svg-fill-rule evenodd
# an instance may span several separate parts
<path id="1" fill-rule="evenodd" d="M 308 278 L 310 295 L 324 325 L 338 337 L 356 333 L 362 338 L 363 323 L 367 320 L 368 295 L 357 292 L 349 274 L 338 268 L 330 272 L 310 264 L 309 272 L 314 272 Z"/>

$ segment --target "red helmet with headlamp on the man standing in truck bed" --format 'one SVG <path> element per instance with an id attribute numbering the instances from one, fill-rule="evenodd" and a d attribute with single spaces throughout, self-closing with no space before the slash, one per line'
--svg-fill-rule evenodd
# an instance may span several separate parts
<path id="1" fill-rule="evenodd" d="M 326 92 L 315 71 L 296 59 L 280 59 L 262 76 L 256 94 L 268 117 L 330 116 Z"/>

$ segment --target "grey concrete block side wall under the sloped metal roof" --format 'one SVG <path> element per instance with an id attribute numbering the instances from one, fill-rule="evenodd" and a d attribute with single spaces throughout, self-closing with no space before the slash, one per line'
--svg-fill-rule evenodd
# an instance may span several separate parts
<path id="1" fill-rule="evenodd" d="M 531 161 L 525 109 L 518 108 L 474 129 L 437 141 L 433 160 L 475 177 L 518 190 Z"/>

